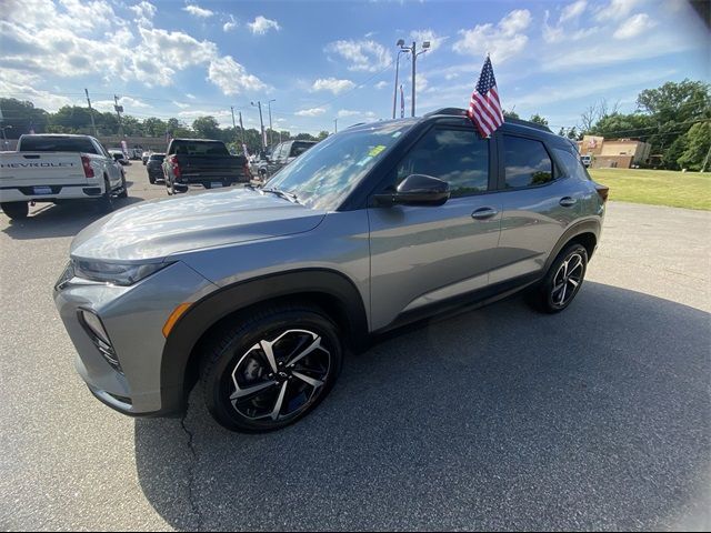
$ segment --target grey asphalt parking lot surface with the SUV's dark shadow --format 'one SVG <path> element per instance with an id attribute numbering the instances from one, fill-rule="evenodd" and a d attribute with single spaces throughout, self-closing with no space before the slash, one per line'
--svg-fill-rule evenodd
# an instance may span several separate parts
<path id="1" fill-rule="evenodd" d="M 166 195 L 127 175 L 122 203 Z M 257 436 L 200 391 L 182 421 L 89 394 L 51 292 L 99 215 L 0 213 L 0 529 L 711 527 L 710 212 L 611 202 L 564 313 L 512 298 L 402 333 Z"/>

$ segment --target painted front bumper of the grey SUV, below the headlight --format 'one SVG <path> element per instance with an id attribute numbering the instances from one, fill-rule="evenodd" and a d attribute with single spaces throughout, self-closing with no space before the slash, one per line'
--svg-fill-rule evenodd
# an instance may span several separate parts
<path id="1" fill-rule="evenodd" d="M 77 349 L 77 372 L 110 408 L 132 416 L 170 415 L 183 406 L 182 382 L 161 381 L 166 339 L 162 326 L 182 302 L 197 301 L 216 286 L 177 262 L 131 286 L 71 278 L 54 291 L 54 303 Z M 97 314 L 120 362 L 101 354 L 79 312 Z"/>

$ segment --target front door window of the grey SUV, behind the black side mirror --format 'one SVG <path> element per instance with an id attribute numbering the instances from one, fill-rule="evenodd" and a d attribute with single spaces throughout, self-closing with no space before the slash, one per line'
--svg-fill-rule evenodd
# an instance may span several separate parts
<path id="1" fill-rule="evenodd" d="M 410 174 L 449 183 L 452 198 L 484 192 L 489 187 L 489 141 L 474 129 L 430 130 L 398 164 L 395 185 Z"/>

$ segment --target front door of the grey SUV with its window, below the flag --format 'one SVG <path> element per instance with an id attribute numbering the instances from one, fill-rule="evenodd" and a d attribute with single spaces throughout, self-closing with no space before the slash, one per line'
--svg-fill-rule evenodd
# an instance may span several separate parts
<path id="1" fill-rule="evenodd" d="M 501 224 L 498 195 L 489 193 L 495 189 L 492 142 L 471 123 L 434 125 L 375 191 L 419 173 L 447 181 L 452 195 L 440 207 L 368 209 L 374 330 L 489 284 Z"/>

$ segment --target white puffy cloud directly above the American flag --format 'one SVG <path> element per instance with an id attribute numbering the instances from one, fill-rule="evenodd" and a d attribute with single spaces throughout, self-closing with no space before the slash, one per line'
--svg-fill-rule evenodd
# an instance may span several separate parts
<path id="1" fill-rule="evenodd" d="M 452 46 L 452 50 L 463 56 L 483 56 L 489 51 L 493 61 L 502 63 L 525 48 L 529 38 L 523 32 L 530 24 L 531 12 L 517 9 L 495 27 L 487 23 L 477 24 L 471 30 L 460 30 L 461 39 Z"/>

